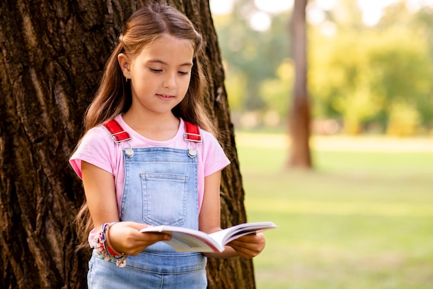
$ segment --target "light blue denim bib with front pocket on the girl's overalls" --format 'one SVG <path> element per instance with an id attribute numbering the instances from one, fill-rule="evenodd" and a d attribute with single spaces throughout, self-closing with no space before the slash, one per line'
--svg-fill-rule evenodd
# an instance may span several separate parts
<path id="1" fill-rule="evenodd" d="M 125 159 L 120 219 L 148 225 L 199 228 L 197 158 L 166 147 L 134 149 Z M 156 243 L 147 252 L 174 252 Z"/>

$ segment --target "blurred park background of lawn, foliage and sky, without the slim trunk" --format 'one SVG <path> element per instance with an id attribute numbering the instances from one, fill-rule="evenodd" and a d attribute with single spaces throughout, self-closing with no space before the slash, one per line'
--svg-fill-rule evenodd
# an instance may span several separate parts
<path id="1" fill-rule="evenodd" d="M 310 0 L 311 169 L 287 167 L 293 0 L 211 0 L 257 288 L 432 288 L 433 1 Z"/>

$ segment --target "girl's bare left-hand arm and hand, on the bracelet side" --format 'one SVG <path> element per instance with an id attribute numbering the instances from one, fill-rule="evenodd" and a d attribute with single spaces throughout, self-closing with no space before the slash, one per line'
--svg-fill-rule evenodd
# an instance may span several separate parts
<path id="1" fill-rule="evenodd" d="M 114 177 L 108 171 L 82 161 L 82 181 L 87 205 L 96 230 L 104 223 L 118 222 L 118 204 Z M 109 247 L 127 255 L 136 255 L 157 241 L 170 239 L 167 234 L 141 233 L 147 227 L 135 222 L 120 222 L 106 232 Z"/>

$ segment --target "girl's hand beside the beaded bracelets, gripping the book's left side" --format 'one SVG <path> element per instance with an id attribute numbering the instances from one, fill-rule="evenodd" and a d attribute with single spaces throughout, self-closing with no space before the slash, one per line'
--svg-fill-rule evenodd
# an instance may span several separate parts
<path id="1" fill-rule="evenodd" d="M 142 233 L 140 230 L 148 225 L 136 222 L 119 222 L 110 226 L 107 242 L 110 248 L 126 255 L 137 255 L 145 248 L 158 241 L 168 241 L 168 234 Z"/>

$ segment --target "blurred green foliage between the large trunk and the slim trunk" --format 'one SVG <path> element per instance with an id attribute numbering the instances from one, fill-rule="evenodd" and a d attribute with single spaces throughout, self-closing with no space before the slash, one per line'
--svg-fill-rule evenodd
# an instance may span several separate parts
<path id="1" fill-rule="evenodd" d="M 234 1 L 232 13 L 214 15 L 230 107 L 238 111 L 267 109 L 268 100 L 259 93 L 260 85 L 275 77 L 289 55 L 288 12 L 275 15 L 270 30 L 262 32 L 253 30 L 248 22 L 252 12 L 257 11 L 252 1 L 238 0 Z"/>

